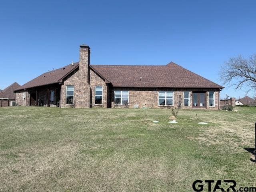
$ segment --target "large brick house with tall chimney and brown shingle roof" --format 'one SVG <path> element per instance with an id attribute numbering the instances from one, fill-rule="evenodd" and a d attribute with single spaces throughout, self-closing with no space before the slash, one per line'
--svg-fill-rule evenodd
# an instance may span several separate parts
<path id="1" fill-rule="evenodd" d="M 222 86 L 170 62 L 165 66 L 91 65 L 90 48 L 79 62 L 46 72 L 16 92 L 20 105 L 218 109 Z"/>

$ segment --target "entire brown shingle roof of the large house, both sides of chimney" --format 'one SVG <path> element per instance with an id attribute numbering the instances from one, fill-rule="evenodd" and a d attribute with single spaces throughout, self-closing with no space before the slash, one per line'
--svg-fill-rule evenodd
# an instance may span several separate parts
<path id="1" fill-rule="evenodd" d="M 46 72 L 20 86 L 17 90 L 61 82 L 78 68 L 79 62 Z M 90 67 L 114 87 L 165 87 L 165 88 L 223 88 L 185 68 L 170 62 L 164 66 L 90 65 Z"/>

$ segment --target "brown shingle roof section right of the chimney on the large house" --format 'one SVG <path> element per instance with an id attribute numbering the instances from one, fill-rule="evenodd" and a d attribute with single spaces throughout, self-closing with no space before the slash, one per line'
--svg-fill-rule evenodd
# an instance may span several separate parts
<path id="1" fill-rule="evenodd" d="M 223 88 L 174 62 L 165 66 L 92 65 L 115 87 Z"/>

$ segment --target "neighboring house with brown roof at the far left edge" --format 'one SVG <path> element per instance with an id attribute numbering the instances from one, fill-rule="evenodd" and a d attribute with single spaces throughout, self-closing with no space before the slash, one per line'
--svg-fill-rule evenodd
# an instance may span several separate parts
<path id="1" fill-rule="evenodd" d="M 14 82 L 4 90 L 0 90 L 0 107 L 10 106 L 11 102 L 15 101 L 14 90 L 18 89 L 19 87 L 20 85 Z"/>

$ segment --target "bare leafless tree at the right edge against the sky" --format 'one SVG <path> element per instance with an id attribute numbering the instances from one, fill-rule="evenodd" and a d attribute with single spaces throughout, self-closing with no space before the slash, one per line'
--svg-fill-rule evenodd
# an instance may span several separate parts
<path id="1" fill-rule="evenodd" d="M 248 59 L 241 55 L 230 58 L 221 67 L 221 80 L 224 84 L 236 86 L 236 89 L 246 87 L 247 92 L 256 90 L 256 54 L 251 55 Z"/>

